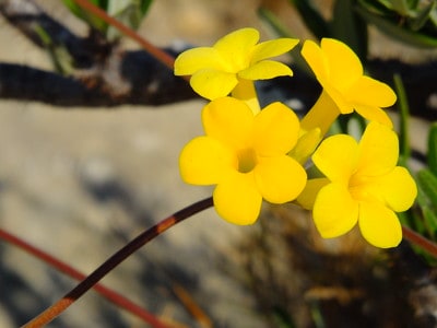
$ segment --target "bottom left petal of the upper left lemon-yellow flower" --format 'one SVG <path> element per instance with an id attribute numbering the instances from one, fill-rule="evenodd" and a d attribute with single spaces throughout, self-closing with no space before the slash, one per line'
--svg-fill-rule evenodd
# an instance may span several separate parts
<path id="1" fill-rule="evenodd" d="M 204 69 L 191 77 L 190 84 L 198 94 L 212 101 L 227 96 L 238 84 L 238 80 L 234 73 Z"/>

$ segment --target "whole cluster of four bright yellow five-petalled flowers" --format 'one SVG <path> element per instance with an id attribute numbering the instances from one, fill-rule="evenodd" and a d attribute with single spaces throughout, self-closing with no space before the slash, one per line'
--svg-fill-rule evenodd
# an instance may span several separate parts
<path id="1" fill-rule="evenodd" d="M 298 40 L 258 40 L 258 31 L 241 28 L 176 59 L 175 74 L 191 75 L 193 90 L 211 101 L 201 115 L 204 136 L 180 154 L 182 179 L 215 185 L 214 208 L 235 224 L 253 223 L 263 199 L 296 201 L 312 210 L 322 237 L 358 224 L 370 244 L 397 246 L 402 230 L 395 212 L 413 204 L 417 189 L 406 168 L 397 166 L 398 137 L 381 109 L 394 104 L 394 92 L 364 75 L 345 44 L 306 40 L 302 56 L 323 87 L 319 99 L 302 121 L 281 103 L 261 109 L 253 81 L 292 75 L 270 58 Z M 322 140 L 339 115 L 354 110 L 369 121 L 359 141 L 347 134 Z M 322 177 L 308 179 L 309 159 Z"/>

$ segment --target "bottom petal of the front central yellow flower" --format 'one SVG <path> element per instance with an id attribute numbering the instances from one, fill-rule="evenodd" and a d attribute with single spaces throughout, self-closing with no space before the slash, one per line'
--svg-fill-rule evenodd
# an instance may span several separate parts
<path id="1" fill-rule="evenodd" d="M 213 192 L 214 207 L 224 220 L 246 225 L 257 221 L 262 197 L 258 192 L 253 174 L 234 172 L 217 185 Z"/>

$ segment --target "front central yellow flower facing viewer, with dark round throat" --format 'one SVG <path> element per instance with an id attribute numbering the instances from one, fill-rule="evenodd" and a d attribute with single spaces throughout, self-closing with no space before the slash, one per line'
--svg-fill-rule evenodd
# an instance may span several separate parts
<path id="1" fill-rule="evenodd" d="M 299 122 L 285 105 L 273 103 L 253 115 L 232 97 L 212 101 L 202 110 L 205 136 L 182 150 L 182 179 L 192 185 L 216 185 L 217 213 L 232 223 L 251 224 L 262 199 L 294 200 L 305 187 L 305 169 L 286 153 L 296 144 Z"/>

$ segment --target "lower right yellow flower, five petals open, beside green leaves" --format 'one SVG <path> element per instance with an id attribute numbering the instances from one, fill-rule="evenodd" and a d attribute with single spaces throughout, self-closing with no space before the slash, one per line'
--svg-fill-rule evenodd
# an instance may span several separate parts
<path id="1" fill-rule="evenodd" d="M 402 239 L 395 212 L 417 195 L 406 168 L 397 166 L 399 142 L 387 126 L 370 122 L 357 143 L 347 134 L 327 138 L 312 155 L 326 178 L 310 179 L 298 202 L 312 209 L 322 237 L 347 233 L 356 223 L 367 242 L 394 247 Z"/>

